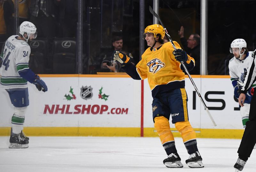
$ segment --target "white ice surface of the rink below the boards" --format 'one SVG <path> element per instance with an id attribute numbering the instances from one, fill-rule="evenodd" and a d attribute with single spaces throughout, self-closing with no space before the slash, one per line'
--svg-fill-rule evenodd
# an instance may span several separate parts
<path id="1" fill-rule="evenodd" d="M 189 168 L 181 138 L 175 138 L 183 168 L 166 168 L 159 138 L 30 137 L 27 149 L 9 149 L 0 137 L 0 172 L 234 172 L 241 140 L 197 139 L 204 168 Z M 256 152 L 242 172 L 256 172 Z"/>

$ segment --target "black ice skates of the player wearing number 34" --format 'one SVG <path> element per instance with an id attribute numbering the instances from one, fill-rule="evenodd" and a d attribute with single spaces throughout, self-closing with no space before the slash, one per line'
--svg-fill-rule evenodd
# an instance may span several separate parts
<path id="1" fill-rule="evenodd" d="M 28 140 L 26 140 L 21 133 L 12 133 L 9 148 L 28 148 Z"/>

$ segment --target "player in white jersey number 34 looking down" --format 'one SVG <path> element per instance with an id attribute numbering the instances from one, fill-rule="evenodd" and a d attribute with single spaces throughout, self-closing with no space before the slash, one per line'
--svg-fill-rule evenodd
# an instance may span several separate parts
<path id="1" fill-rule="evenodd" d="M 8 92 L 14 106 L 9 148 L 28 147 L 29 139 L 22 132 L 25 112 L 29 105 L 27 82 L 35 84 L 39 91 L 48 90 L 44 81 L 28 68 L 28 41 L 35 39 L 36 36 L 36 26 L 28 21 L 23 22 L 19 27 L 19 35 L 12 35 L 6 40 L 0 55 L 0 83 Z"/>

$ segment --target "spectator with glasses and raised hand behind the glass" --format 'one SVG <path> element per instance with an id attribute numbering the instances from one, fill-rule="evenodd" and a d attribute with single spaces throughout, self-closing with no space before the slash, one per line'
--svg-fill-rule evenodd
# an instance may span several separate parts
<path id="1" fill-rule="evenodd" d="M 195 68 L 190 71 L 190 74 L 200 75 L 200 36 L 197 33 L 193 33 L 186 39 L 183 26 L 180 27 L 178 34 L 184 50 L 196 61 Z"/>

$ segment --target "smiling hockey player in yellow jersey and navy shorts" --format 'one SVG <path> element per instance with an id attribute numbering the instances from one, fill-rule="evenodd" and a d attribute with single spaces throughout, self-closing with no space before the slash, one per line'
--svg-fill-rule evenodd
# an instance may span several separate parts
<path id="1" fill-rule="evenodd" d="M 148 78 L 153 103 L 153 121 L 155 129 L 168 157 L 164 164 L 168 168 L 182 168 L 180 156 L 177 153 L 174 137 L 170 129 L 169 119 L 180 132 L 189 158 L 186 163 L 191 168 L 202 168 L 202 157 L 197 149 L 196 133 L 188 121 L 187 93 L 185 90 L 185 73 L 181 66 L 184 62 L 188 71 L 195 66 L 195 60 L 173 41 L 177 50 L 170 42 L 164 44 L 164 28 L 161 25 L 149 25 L 144 31 L 148 49 L 142 54 L 139 63 L 134 66 L 130 57 L 122 52 L 113 53 L 113 61 L 118 61 L 122 69 L 133 79 Z"/>

